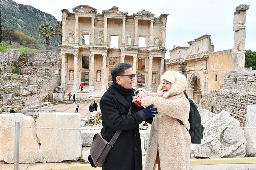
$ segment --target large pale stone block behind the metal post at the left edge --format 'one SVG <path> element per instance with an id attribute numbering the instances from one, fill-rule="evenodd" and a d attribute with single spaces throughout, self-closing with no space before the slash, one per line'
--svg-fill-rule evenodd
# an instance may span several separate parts
<path id="1" fill-rule="evenodd" d="M 0 114 L 0 128 L 15 125 L 15 121 L 20 121 L 20 125 L 35 126 L 34 119 L 21 113 Z M 14 139 L 15 128 L 0 131 L 0 160 L 9 164 L 14 163 Z M 46 159 L 39 150 L 35 128 L 20 127 L 20 163 L 44 162 Z"/>

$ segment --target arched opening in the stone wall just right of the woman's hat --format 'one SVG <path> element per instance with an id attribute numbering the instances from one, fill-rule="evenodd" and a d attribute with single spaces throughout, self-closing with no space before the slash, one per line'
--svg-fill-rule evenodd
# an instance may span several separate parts
<path id="1" fill-rule="evenodd" d="M 195 103 L 198 103 L 196 95 L 202 95 L 202 80 L 200 75 L 197 72 L 194 72 L 189 79 L 189 98 L 194 99 Z"/>

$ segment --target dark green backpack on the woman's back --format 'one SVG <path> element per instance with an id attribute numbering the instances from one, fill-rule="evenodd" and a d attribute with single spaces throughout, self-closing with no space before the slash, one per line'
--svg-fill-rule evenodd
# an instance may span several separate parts
<path id="1" fill-rule="evenodd" d="M 204 132 L 204 127 L 201 123 L 201 116 L 199 114 L 199 111 L 197 110 L 197 105 L 194 103 L 194 101 L 188 98 L 188 94 L 186 93 L 186 91 L 184 91 L 184 95 L 186 96 L 190 104 L 188 121 L 190 123 L 189 134 L 191 136 L 191 143 L 200 144 Z M 177 120 L 181 125 L 184 125 L 181 120 Z"/>

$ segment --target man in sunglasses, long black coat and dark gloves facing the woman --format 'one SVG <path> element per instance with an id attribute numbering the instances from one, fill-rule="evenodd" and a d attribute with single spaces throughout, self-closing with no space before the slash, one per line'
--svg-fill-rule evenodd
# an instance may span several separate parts
<path id="1" fill-rule="evenodd" d="M 157 108 L 152 108 L 153 104 L 143 108 L 132 103 L 135 74 L 131 64 L 115 64 L 111 76 L 113 84 L 99 101 L 103 120 L 101 134 L 109 142 L 117 130 L 122 132 L 110 149 L 102 170 L 142 170 L 139 123 L 143 120 L 151 123 L 158 113 Z M 130 107 L 131 114 L 128 114 Z"/>

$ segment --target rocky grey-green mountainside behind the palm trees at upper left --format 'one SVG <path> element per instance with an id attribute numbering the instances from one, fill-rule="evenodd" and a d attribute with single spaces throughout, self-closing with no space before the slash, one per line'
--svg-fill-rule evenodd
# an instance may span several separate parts
<path id="1" fill-rule="evenodd" d="M 53 26 L 57 19 L 51 14 L 44 13 L 36 8 L 18 4 L 11 0 L 1 0 L 2 29 L 11 27 L 26 35 L 35 37 L 40 44 L 45 46 L 45 38 L 39 38 L 38 27 L 43 23 L 51 23 Z M 58 47 L 60 37 L 50 37 L 50 46 Z"/>

